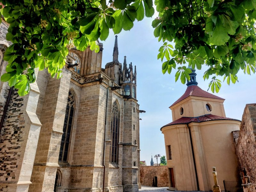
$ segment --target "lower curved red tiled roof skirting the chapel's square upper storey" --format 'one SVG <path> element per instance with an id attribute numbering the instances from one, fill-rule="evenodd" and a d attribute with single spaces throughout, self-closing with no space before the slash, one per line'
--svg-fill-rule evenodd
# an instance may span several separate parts
<path id="1" fill-rule="evenodd" d="M 214 121 L 214 120 L 234 120 L 234 121 L 240 121 L 238 119 L 232 119 L 232 118 L 228 118 L 228 117 L 221 117 L 221 116 L 216 116 L 216 115 L 212 115 L 212 114 L 207 114 L 207 115 L 202 115 L 202 116 L 198 116 L 198 117 L 181 117 L 169 124 L 164 125 L 163 127 L 169 126 L 169 125 L 177 125 L 177 124 L 189 124 L 192 122 L 197 122 L 197 123 L 201 123 L 201 122 L 205 122 L 205 121 Z M 163 128 L 161 127 L 161 129 Z M 160 130 L 161 130 L 160 129 Z"/>

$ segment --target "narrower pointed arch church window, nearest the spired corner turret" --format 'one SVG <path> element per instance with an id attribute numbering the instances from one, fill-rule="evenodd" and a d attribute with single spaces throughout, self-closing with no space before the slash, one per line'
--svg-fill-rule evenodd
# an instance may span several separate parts
<path id="1" fill-rule="evenodd" d="M 110 153 L 109 161 L 118 163 L 118 140 L 119 140 L 119 108 L 116 101 L 111 108 L 111 126 L 110 126 Z"/>

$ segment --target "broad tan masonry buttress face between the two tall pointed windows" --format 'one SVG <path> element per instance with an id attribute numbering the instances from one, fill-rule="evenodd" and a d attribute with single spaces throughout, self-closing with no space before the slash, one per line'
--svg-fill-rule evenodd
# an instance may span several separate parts
<path id="1" fill-rule="evenodd" d="M 69 188 L 92 188 L 100 84 L 82 87 Z M 74 190 L 75 191 L 75 190 Z"/>

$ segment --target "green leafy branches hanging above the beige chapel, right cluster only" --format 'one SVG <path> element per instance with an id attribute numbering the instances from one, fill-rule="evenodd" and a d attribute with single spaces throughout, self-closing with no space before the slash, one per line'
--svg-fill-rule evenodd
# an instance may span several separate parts
<path id="1" fill-rule="evenodd" d="M 217 76 L 230 84 L 238 81 L 239 70 L 255 73 L 256 0 L 155 0 L 155 4 L 159 17 L 152 26 L 158 41 L 164 42 L 157 56 L 166 59 L 163 73 L 177 67 L 175 81 L 180 77 L 185 84 L 191 72 L 185 64 L 199 70 L 207 65 L 204 80 L 213 75 L 212 92 L 221 87 Z M 172 41 L 174 48 L 168 44 Z"/>

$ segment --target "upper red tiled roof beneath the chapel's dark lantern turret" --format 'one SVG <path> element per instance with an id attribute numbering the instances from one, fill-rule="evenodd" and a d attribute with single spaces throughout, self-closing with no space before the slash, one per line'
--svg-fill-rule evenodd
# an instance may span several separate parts
<path id="1" fill-rule="evenodd" d="M 218 97 L 216 95 L 213 95 L 211 93 L 208 93 L 208 92 L 204 91 L 203 89 L 201 89 L 197 85 L 191 85 L 191 86 L 188 86 L 188 88 L 185 91 L 185 93 L 177 101 L 175 101 L 170 107 L 172 107 L 176 103 L 179 103 L 180 101 L 186 99 L 189 96 L 205 97 L 205 98 L 225 100 L 225 99 L 222 99 L 222 98 L 220 98 L 220 97 Z"/>

